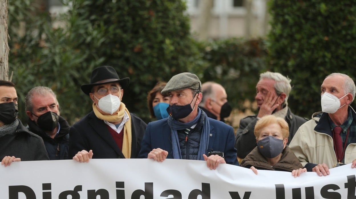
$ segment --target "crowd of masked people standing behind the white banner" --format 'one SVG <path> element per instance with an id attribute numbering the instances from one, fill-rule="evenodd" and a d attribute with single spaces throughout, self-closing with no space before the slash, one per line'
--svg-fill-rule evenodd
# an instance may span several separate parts
<path id="1" fill-rule="evenodd" d="M 98 67 L 80 88 L 93 101 L 92 111 L 73 126 L 60 116 L 56 94 L 35 87 L 25 98 L 25 127 L 17 115 L 15 84 L 0 80 L 0 157 L 5 167 L 16 161 L 92 158 L 167 158 L 291 172 L 330 174 L 330 168 L 356 166 L 354 81 L 332 73 L 321 84 L 321 112 L 311 120 L 288 106 L 291 80 L 280 73 L 260 74 L 257 115 L 240 120 L 237 132 L 225 124 L 232 107 L 224 87 L 201 84 L 197 75 L 180 73 L 148 92 L 151 118 L 146 124 L 122 103 L 130 78 L 110 66 Z M 240 162 L 240 164 L 239 164 Z"/>

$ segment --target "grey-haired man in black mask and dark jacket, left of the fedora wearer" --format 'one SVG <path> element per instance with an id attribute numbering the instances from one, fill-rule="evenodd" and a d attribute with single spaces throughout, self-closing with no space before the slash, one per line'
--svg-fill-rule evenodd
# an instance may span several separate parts
<path id="1" fill-rule="evenodd" d="M 49 159 L 68 159 L 70 126 L 59 116 L 56 94 L 48 87 L 32 88 L 26 95 L 25 105 L 28 130 L 42 137 Z"/>

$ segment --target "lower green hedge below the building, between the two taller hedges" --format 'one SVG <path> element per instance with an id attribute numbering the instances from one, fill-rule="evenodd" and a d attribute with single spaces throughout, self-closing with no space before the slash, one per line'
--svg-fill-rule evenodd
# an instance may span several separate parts
<path id="1" fill-rule="evenodd" d="M 201 82 L 223 85 L 235 109 L 253 109 L 246 107 L 245 100 L 255 101 L 260 73 L 267 69 L 265 41 L 230 38 L 206 42 L 200 49 L 205 65 L 194 72 L 200 74 Z"/>

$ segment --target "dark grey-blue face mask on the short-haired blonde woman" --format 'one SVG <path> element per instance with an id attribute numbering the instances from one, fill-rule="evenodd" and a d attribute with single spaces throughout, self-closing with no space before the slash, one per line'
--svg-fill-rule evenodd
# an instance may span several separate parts
<path id="1" fill-rule="evenodd" d="M 266 158 L 274 158 L 282 153 L 283 140 L 279 140 L 273 136 L 267 136 L 257 142 L 257 148 Z"/>

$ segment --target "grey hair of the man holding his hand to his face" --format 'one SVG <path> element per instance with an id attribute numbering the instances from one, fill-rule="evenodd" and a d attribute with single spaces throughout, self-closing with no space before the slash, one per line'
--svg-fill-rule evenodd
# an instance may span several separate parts
<path id="1" fill-rule="evenodd" d="M 269 71 L 260 74 L 260 80 L 263 78 L 273 79 L 276 81 L 276 83 L 273 85 L 276 94 L 286 94 L 286 99 L 284 99 L 284 102 L 288 101 L 289 93 L 292 90 L 292 86 L 290 85 L 290 82 L 292 81 L 291 79 L 284 77 L 281 73 L 273 73 Z"/>

